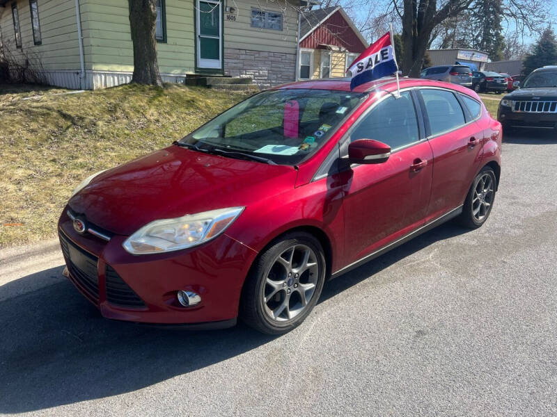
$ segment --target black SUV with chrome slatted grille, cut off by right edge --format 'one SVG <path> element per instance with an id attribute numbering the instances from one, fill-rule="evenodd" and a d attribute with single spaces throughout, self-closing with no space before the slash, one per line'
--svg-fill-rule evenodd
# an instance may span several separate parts
<path id="1" fill-rule="evenodd" d="M 557 131 L 557 66 L 538 68 L 519 89 L 499 103 L 497 120 L 503 129 L 515 127 Z"/>

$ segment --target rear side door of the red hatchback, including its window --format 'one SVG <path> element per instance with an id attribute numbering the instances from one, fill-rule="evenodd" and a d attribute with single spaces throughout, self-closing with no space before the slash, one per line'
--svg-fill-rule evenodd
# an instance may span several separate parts
<path id="1" fill-rule="evenodd" d="M 425 130 L 433 150 L 433 179 L 426 221 L 464 203 L 479 169 L 483 131 L 459 93 L 443 88 L 418 90 Z"/>

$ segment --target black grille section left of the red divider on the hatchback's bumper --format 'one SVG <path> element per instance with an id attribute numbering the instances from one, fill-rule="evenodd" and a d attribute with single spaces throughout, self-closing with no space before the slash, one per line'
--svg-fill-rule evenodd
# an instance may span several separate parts
<path id="1" fill-rule="evenodd" d="M 97 256 L 82 250 L 62 233 L 58 234 L 65 263 L 70 275 L 82 291 L 93 301 L 99 301 L 99 277 L 97 275 Z"/>

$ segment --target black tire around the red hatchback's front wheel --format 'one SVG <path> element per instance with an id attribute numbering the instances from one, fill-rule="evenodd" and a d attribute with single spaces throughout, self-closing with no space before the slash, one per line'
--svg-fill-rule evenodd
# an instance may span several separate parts
<path id="1" fill-rule="evenodd" d="M 316 266 L 312 266 L 311 268 L 317 268 L 317 272 L 315 269 L 308 268 L 306 270 L 307 274 L 306 272 L 302 272 L 299 277 L 299 281 L 292 281 L 291 283 L 291 279 L 288 278 L 288 267 L 283 265 L 281 261 L 278 261 L 278 257 L 281 256 L 281 254 L 288 252 L 290 247 L 294 247 L 293 251 L 299 250 L 296 248 L 301 248 L 302 251 L 305 250 L 304 248 L 308 248 L 310 252 L 313 251 L 314 257 L 312 259 L 315 261 L 313 263 L 315 263 Z M 295 257 L 295 252 L 292 253 L 292 257 Z M 285 261 L 285 258 L 283 257 L 282 260 Z M 295 263 L 296 261 L 294 259 L 290 260 L 291 266 Z M 306 262 L 306 264 L 307 263 L 311 262 Z M 278 265 L 278 267 L 276 265 Z M 271 277 L 274 270 L 278 271 L 276 275 L 278 277 L 278 275 L 282 273 L 282 267 L 285 268 L 284 270 L 286 271 L 285 279 L 283 281 L 281 281 L 281 279 L 277 279 L 276 282 L 283 282 L 284 286 L 281 290 L 276 290 L 274 289 L 276 288 L 275 286 L 271 286 L 270 288 L 272 291 L 268 292 L 269 284 L 267 283 L 269 281 L 267 280 L 267 277 Z M 292 269 L 292 274 L 294 270 L 295 269 Z M 276 335 L 290 332 L 290 330 L 294 329 L 302 321 L 304 321 L 308 314 L 311 313 L 315 304 L 317 304 L 317 300 L 319 299 L 323 289 L 326 270 L 327 268 L 323 248 L 319 240 L 317 240 L 313 235 L 305 232 L 292 232 L 281 236 L 275 240 L 274 243 L 271 243 L 267 250 L 258 256 L 251 268 L 249 276 L 246 278 L 244 288 L 242 289 L 242 297 L 240 299 L 240 319 L 245 322 L 246 325 L 249 325 L 262 333 Z M 292 300 L 297 302 L 295 296 L 298 297 L 300 302 L 296 305 L 303 305 L 301 304 L 301 291 L 304 291 L 302 288 L 304 286 L 302 281 L 309 279 L 310 276 L 311 279 L 315 280 L 315 289 L 305 306 L 299 307 L 299 312 L 294 317 L 289 318 L 291 314 L 290 303 Z M 294 275 L 292 275 L 291 278 L 293 280 Z M 273 282 L 275 282 L 274 279 Z M 298 284 L 296 284 L 296 282 Z M 297 286 L 297 289 L 295 289 L 295 286 Z M 286 293 L 287 291 L 288 295 Z M 267 297 L 270 296 L 268 301 L 266 301 L 266 293 L 268 293 Z M 304 294 L 305 293 L 306 291 L 304 291 Z M 281 300 L 276 300 L 277 297 Z M 288 300 L 286 297 L 288 297 Z M 304 300 L 305 299 L 306 296 L 304 295 Z M 288 313 L 286 314 L 288 318 L 281 318 L 280 316 L 278 318 L 272 317 L 274 311 L 269 309 L 269 303 L 273 302 L 276 302 L 277 304 L 288 304 L 288 308 L 285 308 L 285 310 L 288 310 Z M 278 310 L 278 307 L 276 310 Z"/>

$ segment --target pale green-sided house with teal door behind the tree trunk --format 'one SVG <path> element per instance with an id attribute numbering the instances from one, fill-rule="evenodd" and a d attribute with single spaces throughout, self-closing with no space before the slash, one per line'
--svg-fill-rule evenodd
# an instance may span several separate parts
<path id="1" fill-rule="evenodd" d="M 163 81 L 294 81 L 299 1 L 157 0 Z M 0 0 L 0 37 L 6 56 L 28 61 L 52 85 L 96 89 L 132 78 L 127 0 Z"/>

